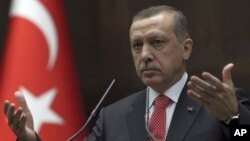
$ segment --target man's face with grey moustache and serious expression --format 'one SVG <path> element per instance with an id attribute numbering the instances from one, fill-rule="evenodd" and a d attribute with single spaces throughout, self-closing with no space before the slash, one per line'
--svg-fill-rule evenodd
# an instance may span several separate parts
<path id="1" fill-rule="evenodd" d="M 174 33 L 174 15 L 163 12 L 137 20 L 130 28 L 131 51 L 137 75 L 145 85 L 164 92 L 185 71 L 192 40 L 179 43 Z"/>

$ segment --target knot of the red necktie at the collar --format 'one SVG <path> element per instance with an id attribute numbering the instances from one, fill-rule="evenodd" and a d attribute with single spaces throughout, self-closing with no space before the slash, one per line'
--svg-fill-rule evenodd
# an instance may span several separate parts
<path id="1" fill-rule="evenodd" d="M 156 109 L 166 109 L 169 104 L 169 98 L 163 94 L 159 95 L 154 100 L 154 106 Z"/>

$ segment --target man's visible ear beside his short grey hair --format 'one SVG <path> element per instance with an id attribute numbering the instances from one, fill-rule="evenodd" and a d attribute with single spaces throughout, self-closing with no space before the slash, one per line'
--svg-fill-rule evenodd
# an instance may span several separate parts
<path id="1" fill-rule="evenodd" d="M 188 60 L 193 48 L 193 40 L 191 38 L 187 38 L 183 42 L 183 59 Z"/>

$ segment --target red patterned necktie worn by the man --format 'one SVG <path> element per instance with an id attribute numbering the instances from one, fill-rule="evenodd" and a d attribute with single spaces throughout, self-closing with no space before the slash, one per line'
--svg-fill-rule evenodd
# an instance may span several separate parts
<path id="1" fill-rule="evenodd" d="M 169 98 L 163 94 L 154 100 L 154 112 L 149 122 L 149 130 L 157 141 L 165 140 L 166 133 L 166 108 L 169 104 Z M 151 141 L 149 139 L 149 141 Z"/>

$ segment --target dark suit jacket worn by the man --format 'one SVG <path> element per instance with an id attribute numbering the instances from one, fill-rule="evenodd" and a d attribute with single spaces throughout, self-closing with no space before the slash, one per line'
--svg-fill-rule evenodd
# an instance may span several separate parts
<path id="1" fill-rule="evenodd" d="M 169 127 L 167 141 L 228 141 L 229 127 L 186 95 L 184 87 Z M 250 124 L 249 97 L 236 90 L 240 124 Z M 85 141 L 147 141 L 146 90 L 102 108 L 96 125 Z M 193 111 L 188 111 L 193 107 Z"/>

